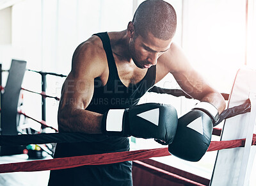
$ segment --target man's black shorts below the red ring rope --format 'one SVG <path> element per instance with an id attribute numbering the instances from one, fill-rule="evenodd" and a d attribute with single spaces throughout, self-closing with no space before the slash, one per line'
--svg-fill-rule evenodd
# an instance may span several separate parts
<path id="1" fill-rule="evenodd" d="M 100 166 L 81 166 L 51 171 L 49 186 L 56 185 L 132 185 L 132 162 Z"/>

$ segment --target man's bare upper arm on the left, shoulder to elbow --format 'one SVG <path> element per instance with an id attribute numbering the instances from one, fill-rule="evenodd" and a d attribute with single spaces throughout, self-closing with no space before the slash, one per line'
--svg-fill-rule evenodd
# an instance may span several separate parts
<path id="1" fill-rule="evenodd" d="M 63 85 L 63 98 L 70 100 L 70 106 L 85 109 L 90 104 L 94 79 L 104 72 L 100 59 L 91 42 L 81 43 L 75 50 L 72 70 Z"/>

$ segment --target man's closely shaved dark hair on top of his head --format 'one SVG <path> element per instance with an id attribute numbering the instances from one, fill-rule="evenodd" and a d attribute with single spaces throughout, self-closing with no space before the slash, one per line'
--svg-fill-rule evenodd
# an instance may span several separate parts
<path id="1" fill-rule="evenodd" d="M 135 33 L 145 36 L 148 31 L 156 38 L 169 40 L 175 35 L 177 16 L 173 6 L 162 0 L 143 1 L 132 19 Z"/>

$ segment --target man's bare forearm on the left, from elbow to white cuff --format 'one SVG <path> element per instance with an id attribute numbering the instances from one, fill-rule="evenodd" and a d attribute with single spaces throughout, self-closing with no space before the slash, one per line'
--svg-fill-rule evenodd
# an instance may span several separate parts
<path id="1" fill-rule="evenodd" d="M 86 134 L 102 134 L 102 114 L 84 109 L 73 109 L 59 112 L 58 126 L 60 132 L 83 132 Z"/>

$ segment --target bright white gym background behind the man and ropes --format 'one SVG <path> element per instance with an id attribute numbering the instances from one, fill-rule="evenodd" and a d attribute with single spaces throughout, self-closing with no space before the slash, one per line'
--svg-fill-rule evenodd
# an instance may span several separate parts
<path id="1" fill-rule="evenodd" d="M 102 31 L 126 29 L 141 0 L 0 0 L 0 63 L 10 68 L 12 59 L 27 61 L 27 68 L 67 75 L 79 43 Z M 191 64 L 221 93 L 230 93 L 237 70 L 256 67 L 256 2 L 253 0 L 169 0 L 177 12 L 174 42 L 184 49 Z M 3 74 L 3 86 L 6 75 Z M 47 94 L 60 97 L 64 79 L 47 77 Z M 40 92 L 41 77 L 26 72 L 23 88 Z M 179 88 L 172 75 L 157 84 Z M 42 98 L 23 93 L 24 111 L 40 118 Z M 147 93 L 142 102 L 163 102 L 177 108 L 179 116 L 196 100 Z M 57 128 L 56 100 L 47 100 L 46 121 Z M 35 128 L 40 125 L 28 121 Z M 220 126 L 218 126 L 220 127 Z M 219 140 L 213 137 L 212 140 Z M 132 139 L 133 149 L 155 148 L 153 140 Z M 216 151 L 200 162 L 175 157 L 155 158 L 205 178 L 211 178 Z M 256 183 L 255 178 L 251 179 Z"/>

